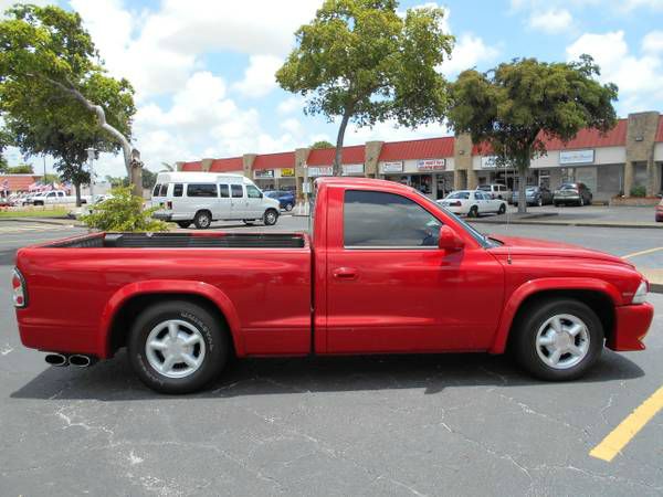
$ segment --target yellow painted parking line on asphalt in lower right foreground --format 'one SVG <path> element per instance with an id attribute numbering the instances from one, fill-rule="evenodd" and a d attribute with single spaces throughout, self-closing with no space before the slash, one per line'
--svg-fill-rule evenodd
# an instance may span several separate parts
<path id="1" fill-rule="evenodd" d="M 591 450 L 589 455 L 611 462 L 661 409 L 663 409 L 663 387 L 629 414 L 599 445 Z"/>

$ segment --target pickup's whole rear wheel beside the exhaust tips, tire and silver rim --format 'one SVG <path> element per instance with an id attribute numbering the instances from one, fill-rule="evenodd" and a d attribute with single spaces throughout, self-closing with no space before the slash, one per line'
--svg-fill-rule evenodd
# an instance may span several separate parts
<path id="1" fill-rule="evenodd" d="M 131 327 L 128 355 L 134 372 L 150 389 L 190 393 L 222 371 L 228 332 L 208 309 L 170 300 L 145 309 Z"/>

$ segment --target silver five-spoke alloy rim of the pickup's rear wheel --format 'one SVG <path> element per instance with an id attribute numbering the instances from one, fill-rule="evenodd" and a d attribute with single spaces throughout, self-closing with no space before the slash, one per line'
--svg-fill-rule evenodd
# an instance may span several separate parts
<path id="1" fill-rule="evenodd" d="M 180 319 L 159 322 L 145 342 L 147 361 L 167 378 L 185 378 L 194 373 L 202 364 L 204 353 L 200 330 Z"/>

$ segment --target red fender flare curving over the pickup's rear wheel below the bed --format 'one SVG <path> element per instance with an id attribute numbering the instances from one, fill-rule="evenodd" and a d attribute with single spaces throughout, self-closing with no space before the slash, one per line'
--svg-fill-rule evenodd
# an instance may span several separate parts
<path id="1" fill-rule="evenodd" d="M 106 303 L 102 313 L 99 324 L 99 342 L 97 350 L 102 351 L 102 358 L 110 357 L 110 326 L 113 319 L 122 306 L 130 298 L 148 294 L 191 294 L 204 297 L 212 302 L 225 317 L 232 341 L 238 356 L 244 356 L 244 347 L 241 340 L 240 318 L 230 298 L 219 288 L 203 282 L 181 279 L 148 279 L 130 283 L 119 288 Z"/>

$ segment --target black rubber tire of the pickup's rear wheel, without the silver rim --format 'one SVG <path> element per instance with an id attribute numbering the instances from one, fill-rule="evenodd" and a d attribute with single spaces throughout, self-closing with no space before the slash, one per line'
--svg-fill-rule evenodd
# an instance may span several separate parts
<path id="1" fill-rule="evenodd" d="M 204 340 L 204 357 L 197 370 L 183 378 L 164 376 L 150 363 L 146 341 L 152 329 L 177 319 L 200 330 Z M 191 393 L 219 377 L 230 356 L 228 330 L 208 309 L 187 300 L 167 300 L 148 307 L 134 321 L 128 340 L 129 362 L 134 372 L 148 388 L 171 394 Z"/>

